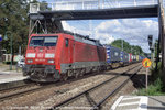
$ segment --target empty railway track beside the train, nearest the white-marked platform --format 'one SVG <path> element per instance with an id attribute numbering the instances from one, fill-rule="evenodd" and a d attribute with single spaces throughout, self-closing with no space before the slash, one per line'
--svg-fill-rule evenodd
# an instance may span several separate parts
<path id="1" fill-rule="evenodd" d="M 131 72 L 131 70 L 133 70 L 133 69 L 135 69 L 135 68 L 138 68 L 133 74 L 130 74 L 130 75 L 128 75 L 129 76 L 129 78 L 127 77 L 125 79 L 124 79 L 124 81 L 122 81 L 120 85 L 118 85 L 113 90 L 111 90 L 111 91 L 109 91 L 105 97 L 102 97 L 99 101 L 95 101 L 94 100 L 94 98 L 95 97 L 91 97 L 91 92 L 95 92 L 95 90 L 96 89 L 98 89 L 98 88 L 102 88 L 105 85 L 107 85 L 107 84 L 109 84 L 109 82 L 111 82 L 112 84 L 112 81 L 114 80 L 114 79 L 117 79 L 117 78 L 119 78 L 120 76 L 124 76 L 124 75 L 127 75 L 129 72 Z M 74 96 L 74 97 L 70 97 L 70 98 L 68 98 L 68 99 L 66 99 L 66 100 L 63 100 L 62 102 L 59 102 L 59 103 L 57 103 L 57 105 L 55 105 L 54 107 L 52 107 L 50 110 L 56 110 L 56 109 L 78 109 L 78 108 L 80 108 L 80 106 L 82 106 L 84 103 L 82 102 L 85 102 L 85 101 L 81 101 L 81 102 L 79 102 L 80 105 L 77 105 L 78 102 L 77 101 L 80 101 L 81 99 L 85 99 L 85 98 L 82 98 L 82 96 L 84 97 L 86 97 L 86 101 L 88 101 L 88 103 L 89 103 L 89 106 L 87 106 L 87 107 L 90 107 L 90 108 L 88 108 L 88 109 L 94 109 L 94 110 L 100 110 L 101 109 L 101 105 L 108 99 L 108 98 L 110 98 L 110 97 L 112 97 L 114 94 L 117 94 L 134 75 L 136 75 L 136 73 L 141 69 L 142 67 L 139 67 L 139 66 L 135 66 L 135 67 L 133 67 L 133 68 L 131 68 L 131 69 L 128 69 L 127 72 L 124 72 L 124 73 L 121 73 L 120 75 L 117 75 L 117 76 L 114 76 L 114 77 L 112 77 L 112 78 L 110 78 L 110 79 L 108 79 L 108 80 L 106 80 L 106 81 L 103 81 L 103 82 L 101 82 L 101 84 L 99 84 L 99 85 L 97 85 L 97 86 L 95 86 L 95 87 L 92 87 L 92 88 L 89 88 L 89 89 L 87 89 L 87 90 L 85 90 L 85 91 L 82 91 L 82 92 L 80 92 L 80 94 L 78 94 L 78 95 L 76 95 L 76 96 Z M 96 97 L 98 97 L 98 96 L 96 96 Z M 76 106 L 75 106 L 76 105 Z M 85 107 L 86 105 L 84 105 L 84 107 Z M 81 108 L 81 109 L 85 109 L 85 108 Z M 87 108 L 86 108 L 87 109 Z"/>

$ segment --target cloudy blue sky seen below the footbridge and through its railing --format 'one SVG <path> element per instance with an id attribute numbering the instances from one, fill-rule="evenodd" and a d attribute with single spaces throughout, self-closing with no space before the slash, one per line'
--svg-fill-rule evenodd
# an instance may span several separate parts
<path id="1" fill-rule="evenodd" d="M 41 1 L 41 0 L 40 0 Z M 53 2 L 54 0 L 47 0 Z M 64 1 L 64 0 L 56 0 Z M 68 0 L 69 1 L 69 0 Z M 72 0 L 70 0 L 72 1 Z M 89 1 L 89 0 L 87 0 Z M 97 1 L 97 0 L 94 0 Z M 102 3 L 102 0 L 100 0 Z M 112 0 L 105 0 L 105 7 L 118 7 L 121 4 L 130 4 L 136 1 L 135 4 L 150 4 L 155 0 L 120 0 L 110 2 Z M 117 1 L 117 0 L 114 0 Z M 119 0 L 118 0 L 119 1 Z M 141 1 L 141 2 L 138 2 Z M 94 3 L 94 2 L 92 2 Z M 81 7 L 80 3 L 78 3 Z M 89 6 L 88 3 L 87 6 Z M 67 6 L 67 7 L 66 7 Z M 91 6 L 91 4 L 90 4 Z M 125 6 L 124 6 L 125 7 Z M 73 2 L 70 4 L 63 4 L 56 7 L 58 10 L 75 10 Z M 101 6 L 101 8 L 103 8 Z M 79 20 L 79 21 L 62 21 L 65 30 L 89 35 L 95 40 L 100 40 L 102 44 L 110 44 L 114 40 L 122 38 L 131 45 L 139 45 L 145 53 L 150 53 L 147 36 L 153 35 L 154 40 L 158 38 L 158 20 L 157 18 L 143 18 L 143 19 L 113 19 L 113 20 Z"/>

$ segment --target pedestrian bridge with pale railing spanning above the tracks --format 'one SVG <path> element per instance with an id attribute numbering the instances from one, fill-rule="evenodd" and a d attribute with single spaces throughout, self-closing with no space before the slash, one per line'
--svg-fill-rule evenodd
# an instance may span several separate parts
<path id="1" fill-rule="evenodd" d="M 157 0 L 55 0 L 31 4 L 31 19 L 89 20 L 157 16 Z"/>

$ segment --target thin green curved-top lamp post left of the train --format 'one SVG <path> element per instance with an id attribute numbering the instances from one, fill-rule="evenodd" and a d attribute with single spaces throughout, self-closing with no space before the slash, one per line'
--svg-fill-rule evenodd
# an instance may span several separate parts
<path id="1" fill-rule="evenodd" d="M 11 53 L 11 61 L 10 61 L 10 70 L 12 70 L 12 33 L 11 31 L 7 31 L 4 34 L 4 40 L 8 40 L 8 34 L 10 34 L 10 53 Z"/>

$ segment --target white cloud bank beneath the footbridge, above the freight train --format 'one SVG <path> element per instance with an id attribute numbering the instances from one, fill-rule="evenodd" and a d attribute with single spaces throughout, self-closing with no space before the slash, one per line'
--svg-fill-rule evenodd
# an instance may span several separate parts
<path id="1" fill-rule="evenodd" d="M 158 38 L 158 22 L 154 19 L 106 20 L 100 23 L 92 21 L 92 23 L 95 23 L 92 31 L 89 30 L 87 23 L 84 30 L 79 26 L 82 25 L 81 23 L 76 23 L 75 26 L 72 26 L 66 21 L 63 21 L 63 26 L 72 32 L 90 35 L 92 38 L 100 40 L 102 44 L 123 38 L 131 45 L 141 46 L 147 53 L 150 52 L 147 36 L 153 35 L 154 40 Z"/>

